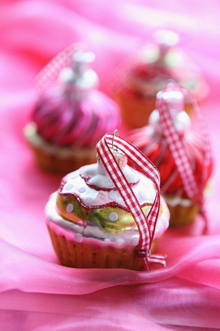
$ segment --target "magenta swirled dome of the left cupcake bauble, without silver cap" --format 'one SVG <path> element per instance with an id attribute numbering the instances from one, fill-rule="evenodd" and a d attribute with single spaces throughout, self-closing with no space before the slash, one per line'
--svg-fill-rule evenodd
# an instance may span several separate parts
<path id="1" fill-rule="evenodd" d="M 58 88 L 42 94 L 35 106 L 33 121 L 38 134 L 57 146 L 91 147 L 120 124 L 116 103 L 104 93 L 91 90 L 76 93 Z"/>

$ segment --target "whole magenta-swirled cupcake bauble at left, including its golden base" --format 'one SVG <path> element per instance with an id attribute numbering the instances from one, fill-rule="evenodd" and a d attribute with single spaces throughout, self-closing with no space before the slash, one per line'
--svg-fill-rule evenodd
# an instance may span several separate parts
<path id="1" fill-rule="evenodd" d="M 96 89 L 93 60 L 92 52 L 76 50 L 69 66 L 60 71 L 58 83 L 40 94 L 32 122 L 25 127 L 37 163 L 45 170 L 65 174 L 95 162 L 96 143 L 120 122 L 117 104 Z M 47 66 L 43 78 L 52 69 Z"/>

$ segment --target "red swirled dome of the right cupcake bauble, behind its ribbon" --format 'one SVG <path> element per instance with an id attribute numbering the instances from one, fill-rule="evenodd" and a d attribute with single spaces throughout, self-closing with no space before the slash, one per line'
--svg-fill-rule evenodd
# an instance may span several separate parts
<path id="1" fill-rule="evenodd" d="M 158 168 L 161 175 L 161 192 L 170 196 L 188 198 L 183 182 L 163 134 L 154 134 L 152 126 L 133 130 L 127 138 L 139 148 Z M 182 141 L 192 165 L 196 182 L 200 185 L 203 171 L 204 146 L 201 139 L 191 131 L 186 132 Z M 212 163 L 206 173 L 206 182 L 212 172 Z"/>

